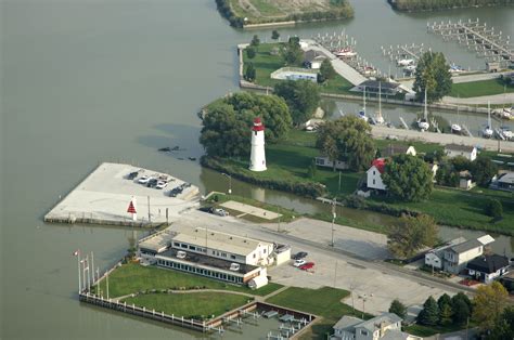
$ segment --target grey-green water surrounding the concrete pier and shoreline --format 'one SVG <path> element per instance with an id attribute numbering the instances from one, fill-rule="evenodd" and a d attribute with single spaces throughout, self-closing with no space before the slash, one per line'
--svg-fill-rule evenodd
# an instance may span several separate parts
<path id="1" fill-rule="evenodd" d="M 354 19 L 280 31 L 283 37 L 310 36 L 346 27 L 358 39 L 360 53 L 381 68 L 387 62 L 375 43 L 421 39 L 463 66 L 481 65 L 457 44 L 426 35 L 427 18 L 479 16 L 497 29 L 514 32 L 513 8 L 411 15 L 390 11 L 385 1 L 354 5 Z M 42 215 L 104 160 L 170 171 L 202 191 L 223 189 L 226 178 L 156 148 L 180 145 L 187 148 L 184 158 L 202 154 L 195 113 L 237 90 L 235 43 L 254 34 L 270 36 L 271 29 L 230 28 L 213 0 L 3 0 L 0 15 L 0 338 L 201 337 L 78 303 L 72 252 L 94 251 L 97 264 L 106 269 L 134 235 L 126 228 L 48 225 Z M 283 193 L 233 185 L 236 194 L 297 211 L 326 208 Z M 260 330 L 244 335 L 259 336 Z"/>

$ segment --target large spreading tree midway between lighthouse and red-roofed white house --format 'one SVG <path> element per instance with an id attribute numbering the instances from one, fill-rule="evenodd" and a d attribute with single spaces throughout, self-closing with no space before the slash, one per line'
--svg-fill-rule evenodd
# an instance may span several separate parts
<path id="1" fill-rule="evenodd" d="M 326 121 L 318 130 L 316 146 L 323 152 L 336 142 L 339 160 L 348 161 L 350 169 L 360 171 L 369 167 L 376 153 L 375 144 L 370 136 L 371 127 L 356 116 L 345 116 L 337 120 Z"/>

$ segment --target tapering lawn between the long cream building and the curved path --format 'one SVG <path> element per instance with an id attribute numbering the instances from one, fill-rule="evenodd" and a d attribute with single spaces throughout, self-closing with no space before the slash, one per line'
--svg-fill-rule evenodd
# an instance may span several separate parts
<path id="1" fill-rule="evenodd" d="M 204 287 L 210 289 L 223 289 L 242 291 L 255 296 L 266 296 L 283 287 L 279 284 L 269 283 L 262 288 L 252 290 L 244 286 L 235 286 L 207 277 L 182 273 L 156 266 L 142 266 L 138 263 L 128 263 L 117 267 L 108 276 L 108 292 L 111 298 L 121 297 L 141 290 L 150 289 L 178 289 L 180 287 Z M 106 296 L 105 279 L 100 283 L 100 288 Z"/>

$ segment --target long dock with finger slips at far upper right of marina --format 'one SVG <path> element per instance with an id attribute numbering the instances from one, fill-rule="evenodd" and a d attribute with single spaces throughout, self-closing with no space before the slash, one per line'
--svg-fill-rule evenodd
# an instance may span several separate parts
<path id="1" fill-rule="evenodd" d="M 494 31 L 494 27 L 481 24 L 479 19 L 467 22 L 427 23 L 429 32 L 439 34 L 445 40 L 455 40 L 467 49 L 475 51 L 478 56 L 490 62 L 498 62 L 502 67 L 514 63 L 514 47 L 511 37 L 504 37 L 502 31 Z M 491 69 L 492 70 L 492 69 Z"/>

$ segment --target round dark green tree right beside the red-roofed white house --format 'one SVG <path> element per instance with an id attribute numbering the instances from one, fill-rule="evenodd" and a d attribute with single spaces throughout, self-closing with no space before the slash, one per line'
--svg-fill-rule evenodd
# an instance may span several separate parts
<path id="1" fill-rule="evenodd" d="M 397 155 L 385 166 L 382 181 L 388 195 L 403 201 L 420 201 L 432 194 L 433 173 L 423 159 Z"/>

